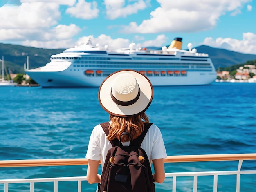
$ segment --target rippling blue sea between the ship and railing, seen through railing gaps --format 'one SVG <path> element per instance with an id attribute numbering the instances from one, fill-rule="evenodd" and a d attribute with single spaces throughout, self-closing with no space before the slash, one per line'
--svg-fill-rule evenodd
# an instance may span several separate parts
<path id="1" fill-rule="evenodd" d="M 98 102 L 98 88 L 0 87 L 0 160 L 84 158 L 95 125 L 109 115 Z M 162 132 L 168 155 L 256 152 L 256 83 L 154 87 L 146 111 Z M 166 163 L 166 172 L 237 170 L 237 161 Z M 246 161 L 242 170 L 255 170 Z M 85 176 L 87 166 L 0 168 L 0 179 Z M 241 175 L 240 191 L 256 191 L 256 176 Z M 43 188 L 43 189 L 42 189 Z M 77 191 L 76 182 L 59 192 Z M 96 184 L 82 182 L 83 191 Z M 172 179 L 156 185 L 169 192 Z M 4 186 L 0 185 L 0 192 Z M 53 183 L 35 191 L 52 192 Z M 177 179 L 177 191 L 192 192 L 193 178 Z M 219 176 L 218 192 L 235 192 L 236 176 Z M 9 184 L 9 192 L 29 192 L 29 183 Z M 198 178 L 198 192 L 213 192 L 213 176 Z"/>

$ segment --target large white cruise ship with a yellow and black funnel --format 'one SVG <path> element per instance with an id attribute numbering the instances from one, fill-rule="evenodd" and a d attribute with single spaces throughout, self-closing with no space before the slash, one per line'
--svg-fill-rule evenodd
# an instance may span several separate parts
<path id="1" fill-rule="evenodd" d="M 216 80 L 216 71 L 208 54 L 198 53 L 192 44 L 182 50 L 182 38 L 174 38 L 162 49 L 128 48 L 109 50 L 94 46 L 92 36 L 81 46 L 52 55 L 43 67 L 25 73 L 41 87 L 99 87 L 111 73 L 133 69 L 145 74 L 153 86 L 209 85 Z"/>

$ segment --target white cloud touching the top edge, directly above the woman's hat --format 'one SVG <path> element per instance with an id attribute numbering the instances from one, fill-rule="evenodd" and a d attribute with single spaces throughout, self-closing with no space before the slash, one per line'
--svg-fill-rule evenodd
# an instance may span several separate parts
<path id="1" fill-rule="evenodd" d="M 137 13 L 139 10 L 145 9 L 146 2 L 138 0 L 133 4 L 125 5 L 125 0 L 104 0 L 106 5 L 106 14 L 109 19 L 116 19 L 119 17 L 126 17 Z M 132 1 L 130 1 L 132 2 Z"/>

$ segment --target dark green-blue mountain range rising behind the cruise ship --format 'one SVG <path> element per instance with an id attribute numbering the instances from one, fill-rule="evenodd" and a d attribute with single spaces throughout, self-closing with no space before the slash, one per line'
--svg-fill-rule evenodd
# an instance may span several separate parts
<path id="1" fill-rule="evenodd" d="M 159 47 L 147 47 L 148 49 L 161 49 Z M 227 49 L 200 45 L 194 47 L 198 53 L 207 53 L 216 69 L 219 67 L 230 67 L 232 65 L 243 64 L 256 59 L 256 54 L 243 54 Z M 35 47 L 25 47 L 21 45 L 11 45 L 0 43 L 0 58 L 4 56 L 4 65 L 13 73 L 25 73 L 24 63 L 29 56 L 29 69 L 41 67 L 50 62 L 51 55 L 63 52 L 65 49 L 43 49 Z"/>

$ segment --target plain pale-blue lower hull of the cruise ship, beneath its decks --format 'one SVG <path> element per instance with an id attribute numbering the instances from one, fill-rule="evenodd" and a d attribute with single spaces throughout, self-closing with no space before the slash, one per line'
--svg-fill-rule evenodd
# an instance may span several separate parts
<path id="1" fill-rule="evenodd" d="M 41 87 L 99 87 L 106 78 L 106 76 L 86 76 L 83 71 L 66 69 L 58 72 L 42 72 L 29 70 L 26 73 Z M 209 85 L 216 79 L 216 73 L 187 71 L 186 76 L 147 77 L 153 86 Z"/>

